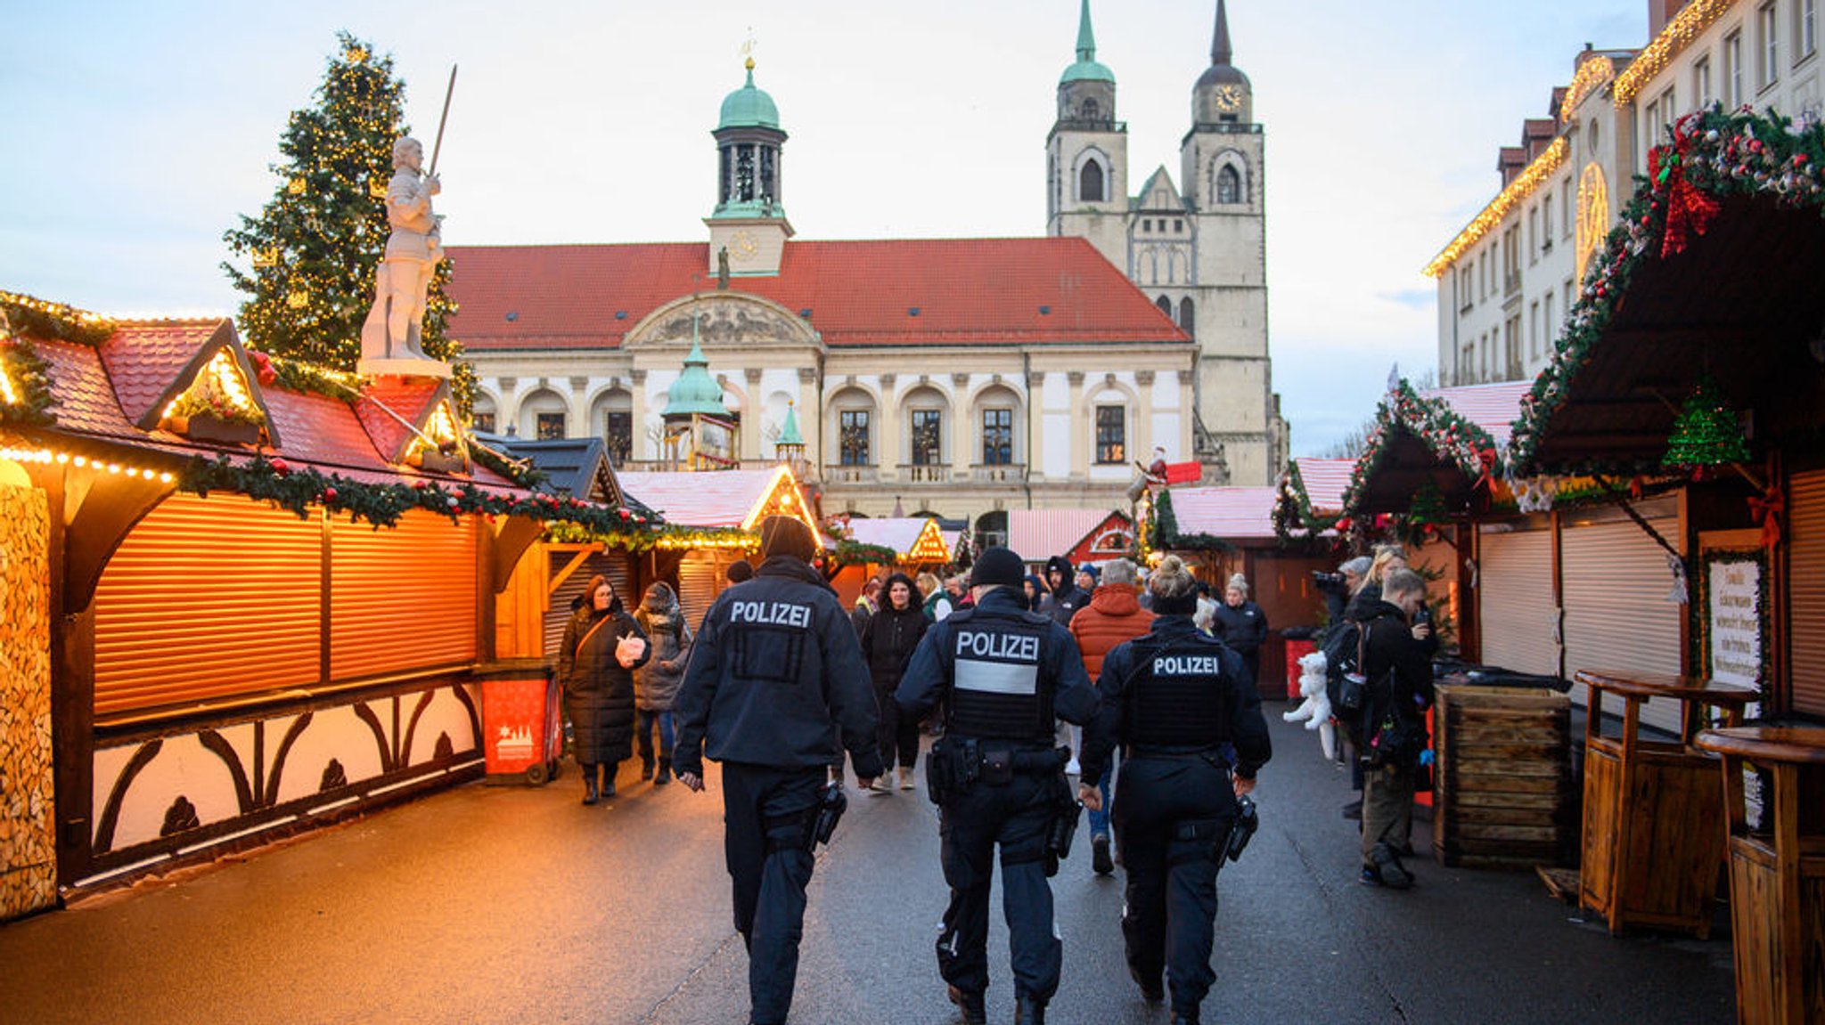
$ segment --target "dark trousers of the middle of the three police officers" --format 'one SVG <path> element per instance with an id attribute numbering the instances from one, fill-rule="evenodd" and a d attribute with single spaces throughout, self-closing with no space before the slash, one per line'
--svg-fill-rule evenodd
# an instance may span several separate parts
<path id="1" fill-rule="evenodd" d="M 989 987 L 989 883 L 1002 848 L 1002 914 L 1007 917 L 1015 989 L 1046 1003 L 1058 992 L 1064 945 L 1053 930 L 1046 881 L 1046 830 L 1051 826 L 1055 771 L 1017 771 L 991 786 L 975 781 L 940 804 L 938 837 L 951 905 L 938 934 L 938 974 L 965 992 Z"/>

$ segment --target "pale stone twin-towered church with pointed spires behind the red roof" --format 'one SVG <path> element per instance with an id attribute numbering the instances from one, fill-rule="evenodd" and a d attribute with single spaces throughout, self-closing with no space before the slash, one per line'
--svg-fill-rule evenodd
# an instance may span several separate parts
<path id="1" fill-rule="evenodd" d="M 1288 438 L 1268 357 L 1263 129 L 1223 0 L 1210 66 L 1192 86 L 1179 182 L 1159 166 L 1130 195 L 1126 164 L 1115 75 L 1095 62 L 1082 0 L 1077 62 L 1058 80 L 1046 140 L 1046 232 L 1088 239 L 1197 343 L 1197 450 L 1168 456 L 1195 458 L 1214 483 L 1270 485 Z"/>

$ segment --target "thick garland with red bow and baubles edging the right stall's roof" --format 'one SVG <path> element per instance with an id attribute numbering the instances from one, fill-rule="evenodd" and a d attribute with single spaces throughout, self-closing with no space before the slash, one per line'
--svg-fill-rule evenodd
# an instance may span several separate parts
<path id="1" fill-rule="evenodd" d="M 1668 248 L 1683 248 L 1690 228 L 1694 197 L 1765 197 L 1794 210 L 1825 208 L 1825 124 L 1794 128 L 1774 111 L 1726 113 L 1712 106 L 1695 120 L 1672 128 L 1672 144 L 1655 148 L 1659 173 L 1650 181 L 1635 177 L 1635 193 L 1622 206 L 1604 250 L 1591 259 L 1582 292 L 1566 314 L 1564 334 L 1553 343 L 1553 356 L 1522 398 L 1520 418 L 1511 440 L 1513 463 L 1529 472 L 1540 441 L 1557 414 L 1571 399 L 1571 383 L 1602 345 L 1610 321 L 1628 292 L 1630 279 L 1646 261 L 1664 259 Z M 1675 237 L 1668 241 L 1668 221 L 1679 210 Z M 1690 228 L 1697 230 L 1697 228 Z M 1652 463 L 1591 460 L 1555 467 L 1570 474 L 1652 472 Z"/>

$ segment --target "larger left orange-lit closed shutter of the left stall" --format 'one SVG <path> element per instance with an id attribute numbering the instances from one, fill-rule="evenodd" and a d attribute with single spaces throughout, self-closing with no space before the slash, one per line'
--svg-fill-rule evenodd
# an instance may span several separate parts
<path id="1" fill-rule="evenodd" d="M 321 525 L 232 494 L 173 494 L 95 589 L 95 713 L 318 682 Z"/>

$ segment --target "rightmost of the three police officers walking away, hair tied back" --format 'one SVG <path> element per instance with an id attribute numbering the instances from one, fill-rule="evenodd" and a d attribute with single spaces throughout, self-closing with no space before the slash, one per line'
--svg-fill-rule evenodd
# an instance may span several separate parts
<path id="1" fill-rule="evenodd" d="M 1157 1003 L 1172 987 L 1173 1025 L 1197 1025 L 1215 972 L 1217 866 L 1239 810 L 1272 748 L 1261 697 L 1241 655 L 1192 626 L 1197 580 L 1166 556 L 1148 580 L 1153 627 L 1102 660 L 1102 709 L 1084 730 L 1082 779 L 1122 744 L 1115 839 L 1128 870 L 1122 936 L 1128 974 Z M 1234 771 L 1226 753 L 1234 750 Z M 1090 808 L 1102 797 L 1079 788 Z"/>

